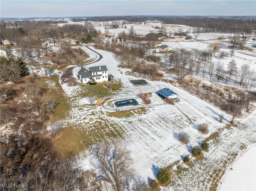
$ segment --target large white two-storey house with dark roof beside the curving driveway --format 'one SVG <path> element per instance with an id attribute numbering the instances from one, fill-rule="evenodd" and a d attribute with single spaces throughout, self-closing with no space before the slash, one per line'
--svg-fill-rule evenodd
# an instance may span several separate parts
<path id="1" fill-rule="evenodd" d="M 105 65 L 90 67 L 89 70 L 82 68 L 78 71 L 78 77 L 82 83 L 108 81 L 108 69 Z"/>

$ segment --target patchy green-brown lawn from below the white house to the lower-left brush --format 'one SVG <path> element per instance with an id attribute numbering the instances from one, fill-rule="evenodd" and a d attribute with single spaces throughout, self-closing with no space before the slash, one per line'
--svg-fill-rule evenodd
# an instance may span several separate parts
<path id="1" fill-rule="evenodd" d="M 66 97 L 58 82 L 58 77 L 51 77 L 50 80 L 56 83 L 56 86 L 54 89 L 50 89 L 50 92 L 56 95 L 58 102 L 52 113 L 52 119 L 64 119 L 67 114 L 69 115 L 68 118 L 74 118 L 54 138 L 55 146 L 63 158 L 78 154 L 103 139 L 122 137 L 124 133 L 122 127 L 112 121 L 111 118 L 106 118 L 106 115 L 102 110 L 99 110 L 98 106 L 78 104 L 72 108 L 73 101 L 79 102 L 81 98 L 86 97 L 90 92 L 93 92 L 96 98 L 104 98 L 116 94 L 121 89 L 122 83 L 109 83 L 110 87 L 115 88 L 116 91 L 106 89 L 103 87 L 104 83 L 98 83 L 97 85 L 78 84 L 79 91 L 75 93 L 76 95 Z"/>

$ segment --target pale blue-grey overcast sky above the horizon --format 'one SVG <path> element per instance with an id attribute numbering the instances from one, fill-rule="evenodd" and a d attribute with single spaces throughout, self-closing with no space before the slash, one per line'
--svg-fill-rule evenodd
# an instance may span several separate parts
<path id="1" fill-rule="evenodd" d="M 255 16 L 255 0 L 0 0 L 1 17 Z"/>

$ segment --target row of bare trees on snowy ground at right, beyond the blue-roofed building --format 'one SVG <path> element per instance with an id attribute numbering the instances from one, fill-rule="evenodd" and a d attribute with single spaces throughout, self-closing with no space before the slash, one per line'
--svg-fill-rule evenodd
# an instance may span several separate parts
<path id="1" fill-rule="evenodd" d="M 191 74 L 197 76 L 201 71 L 203 78 L 208 74 L 210 79 L 214 76 L 217 81 L 222 80 L 225 84 L 232 80 L 234 85 L 237 83 L 243 88 L 250 87 L 251 89 L 256 82 L 256 73 L 250 69 L 250 65 L 244 64 L 238 68 L 233 59 L 225 69 L 221 61 L 212 61 L 212 56 L 218 50 L 218 44 L 210 44 L 206 51 L 180 49 L 179 51 L 164 55 L 163 66 L 170 68 L 177 75 L 178 80 Z M 222 58 L 228 54 L 232 56 L 233 53 L 234 51 L 231 49 L 230 53 L 220 51 L 219 55 Z"/>

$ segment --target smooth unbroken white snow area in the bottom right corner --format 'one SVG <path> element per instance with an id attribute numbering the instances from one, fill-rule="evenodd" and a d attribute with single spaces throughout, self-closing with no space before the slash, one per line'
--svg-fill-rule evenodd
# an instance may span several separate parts
<path id="1" fill-rule="evenodd" d="M 256 146 L 242 154 L 220 180 L 219 191 L 256 190 Z"/>

